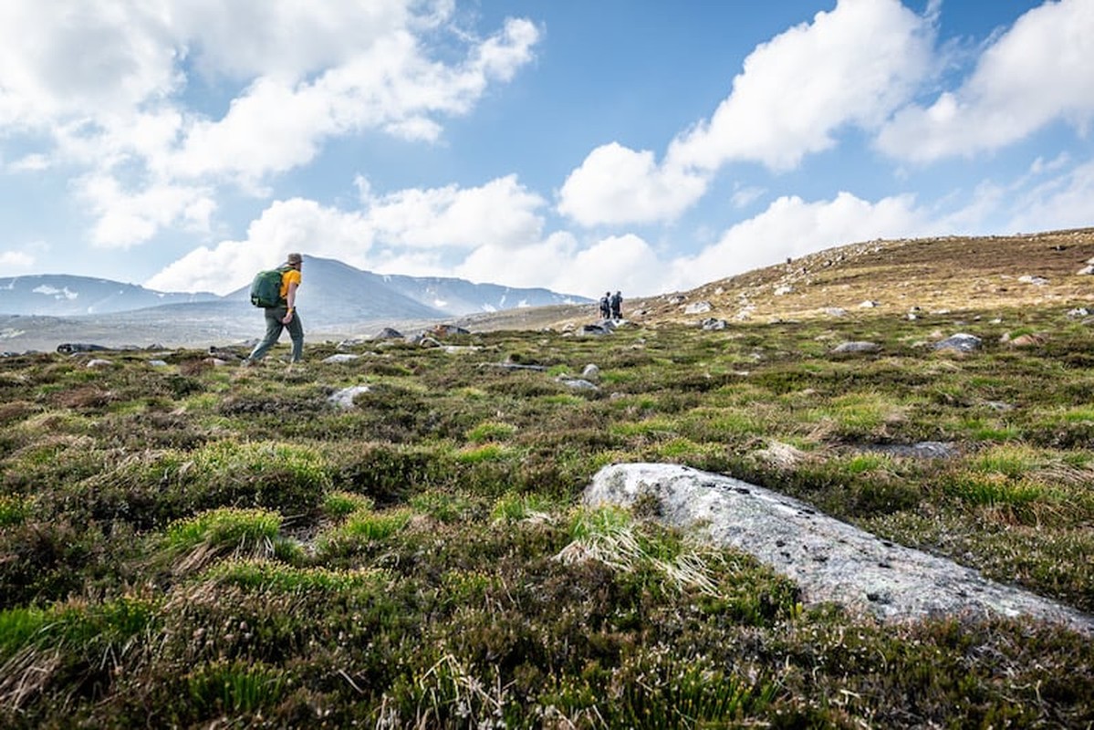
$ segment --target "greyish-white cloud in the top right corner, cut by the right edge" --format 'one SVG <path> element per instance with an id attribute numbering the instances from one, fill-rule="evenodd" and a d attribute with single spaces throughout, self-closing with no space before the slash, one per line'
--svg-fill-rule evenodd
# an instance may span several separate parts
<path id="1" fill-rule="evenodd" d="M 1094 3 L 1046 2 L 1019 19 L 980 57 L 956 91 L 893 119 L 877 146 L 931 162 L 1024 139 L 1055 120 L 1085 132 L 1094 117 Z"/>

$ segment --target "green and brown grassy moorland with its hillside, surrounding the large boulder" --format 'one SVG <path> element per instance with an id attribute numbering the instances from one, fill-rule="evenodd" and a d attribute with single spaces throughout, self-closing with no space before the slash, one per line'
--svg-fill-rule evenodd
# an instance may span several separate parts
<path id="1" fill-rule="evenodd" d="M 605 464 L 688 464 L 1094 613 L 1087 235 L 1005 271 L 977 242 L 863 244 L 605 337 L 0 359 L 0 726 L 1090 727 L 1090 637 L 805 607 L 578 501 Z M 955 333 L 980 349 L 934 349 Z M 596 389 L 565 382 L 590 363 Z M 901 449 L 924 441 L 947 455 Z"/>

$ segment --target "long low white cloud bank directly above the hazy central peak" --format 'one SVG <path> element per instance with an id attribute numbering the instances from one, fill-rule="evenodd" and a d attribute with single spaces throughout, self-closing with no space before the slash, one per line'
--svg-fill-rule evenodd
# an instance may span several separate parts
<path id="1" fill-rule="evenodd" d="M 408 189 L 341 210 L 294 198 L 267 208 L 243 240 L 202 246 L 144 282 L 162 291 L 229 293 L 290 251 L 337 258 L 379 274 L 459 277 L 594 297 L 605 287 L 657 290 L 663 265 L 633 234 L 582 244 L 544 235 L 545 202 L 507 176 L 475 188 Z"/>

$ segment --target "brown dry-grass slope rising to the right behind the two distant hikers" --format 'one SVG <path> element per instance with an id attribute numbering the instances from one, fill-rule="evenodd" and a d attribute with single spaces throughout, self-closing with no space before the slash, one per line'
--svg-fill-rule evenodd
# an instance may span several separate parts
<path id="1" fill-rule="evenodd" d="M 645 325 L 703 318 L 777 322 L 831 317 L 829 310 L 872 314 L 1083 305 L 1094 277 L 1094 228 L 1012 236 L 877 240 L 828 248 L 788 263 L 710 281 L 689 291 L 628 299 L 624 315 Z M 1038 285 L 1024 277 L 1046 279 Z M 790 289 L 789 293 L 785 292 Z M 687 314 L 696 302 L 710 311 Z M 477 331 L 574 327 L 596 318 L 594 304 L 512 310 L 470 317 Z"/>

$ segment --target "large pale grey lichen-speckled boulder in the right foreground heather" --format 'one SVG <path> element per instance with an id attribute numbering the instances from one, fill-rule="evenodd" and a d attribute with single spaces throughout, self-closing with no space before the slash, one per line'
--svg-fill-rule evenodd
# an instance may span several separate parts
<path id="1" fill-rule="evenodd" d="M 638 500 L 668 525 L 752 554 L 794 580 L 810 604 L 835 602 L 882 621 L 1032 616 L 1094 635 L 1094 618 L 1073 609 L 731 477 L 671 464 L 615 464 L 584 493 L 587 506 Z"/>

